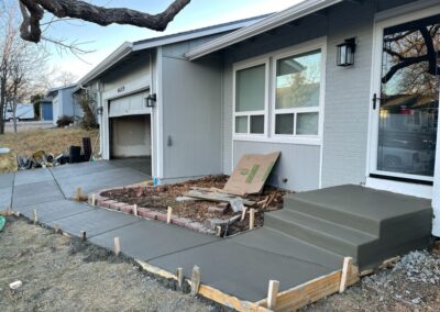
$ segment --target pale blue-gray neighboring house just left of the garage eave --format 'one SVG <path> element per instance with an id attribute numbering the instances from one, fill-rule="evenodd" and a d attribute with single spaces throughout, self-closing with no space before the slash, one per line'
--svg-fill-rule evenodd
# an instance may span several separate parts
<path id="1" fill-rule="evenodd" d="M 56 124 L 56 121 L 63 115 L 72 116 L 75 120 L 82 115 L 81 109 L 74 101 L 73 90 L 76 86 L 77 85 L 69 85 L 48 90 L 46 98 L 52 100 L 54 124 Z"/>

